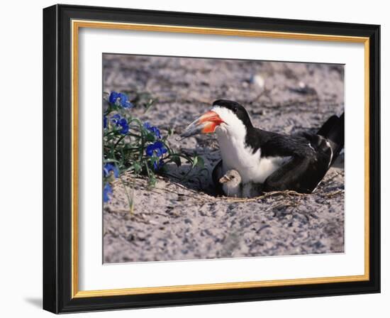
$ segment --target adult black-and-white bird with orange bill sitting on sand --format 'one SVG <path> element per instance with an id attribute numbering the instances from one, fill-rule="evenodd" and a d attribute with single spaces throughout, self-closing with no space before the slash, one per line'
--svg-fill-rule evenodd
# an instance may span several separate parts
<path id="1" fill-rule="evenodd" d="M 311 193 L 344 146 L 344 114 L 331 116 L 317 133 L 287 136 L 255 128 L 243 106 L 219 99 L 182 137 L 196 133 L 218 138 L 222 160 L 213 169 L 216 186 L 221 188 L 221 177 L 234 169 L 244 185 L 261 185 L 263 192 Z"/>

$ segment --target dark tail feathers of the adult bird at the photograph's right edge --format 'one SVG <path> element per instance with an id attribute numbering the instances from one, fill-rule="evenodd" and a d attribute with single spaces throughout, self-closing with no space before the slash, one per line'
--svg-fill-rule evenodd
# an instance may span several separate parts
<path id="1" fill-rule="evenodd" d="M 317 134 L 325 137 L 331 142 L 333 163 L 336 158 L 338 158 L 342 148 L 344 148 L 344 113 L 342 113 L 341 116 L 331 116 L 327 121 L 325 121 Z"/>

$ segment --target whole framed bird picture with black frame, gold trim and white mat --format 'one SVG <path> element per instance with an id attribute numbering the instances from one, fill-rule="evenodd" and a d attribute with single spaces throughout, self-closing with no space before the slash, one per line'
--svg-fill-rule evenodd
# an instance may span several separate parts
<path id="1" fill-rule="evenodd" d="M 379 31 L 44 9 L 44 309 L 379 292 Z"/>

